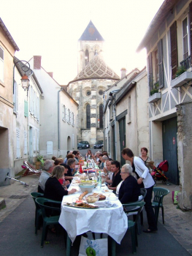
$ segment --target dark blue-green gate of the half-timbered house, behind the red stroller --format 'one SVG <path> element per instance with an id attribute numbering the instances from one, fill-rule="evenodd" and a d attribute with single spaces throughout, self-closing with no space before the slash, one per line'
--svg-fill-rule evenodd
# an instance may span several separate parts
<path id="1" fill-rule="evenodd" d="M 177 165 L 177 117 L 163 121 L 163 157 L 169 162 L 166 176 L 173 184 L 179 184 Z"/>

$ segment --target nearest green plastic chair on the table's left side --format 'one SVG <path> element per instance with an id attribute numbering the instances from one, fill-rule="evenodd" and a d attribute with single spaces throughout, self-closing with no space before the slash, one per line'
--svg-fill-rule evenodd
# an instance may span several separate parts
<path id="1" fill-rule="evenodd" d="M 38 197 L 36 199 L 36 203 L 38 203 L 39 207 L 42 210 L 43 227 L 41 246 L 43 247 L 44 241 L 47 238 L 47 229 L 49 225 L 58 224 L 58 219 L 61 214 L 61 202 L 50 200 L 44 197 Z M 59 208 L 56 206 L 59 206 Z M 54 216 L 50 216 L 51 213 L 54 213 Z M 58 215 L 55 215 L 55 213 L 58 213 Z"/>

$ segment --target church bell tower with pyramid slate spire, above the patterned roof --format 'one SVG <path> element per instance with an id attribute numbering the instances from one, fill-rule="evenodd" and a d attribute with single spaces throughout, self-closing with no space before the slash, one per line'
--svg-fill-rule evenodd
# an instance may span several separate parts
<path id="1" fill-rule="evenodd" d="M 85 68 L 86 64 L 93 59 L 96 53 L 103 59 L 103 45 L 103 37 L 101 37 L 101 34 L 99 34 L 99 31 L 90 20 L 90 23 L 88 23 L 88 26 L 78 40 L 78 74 Z"/>

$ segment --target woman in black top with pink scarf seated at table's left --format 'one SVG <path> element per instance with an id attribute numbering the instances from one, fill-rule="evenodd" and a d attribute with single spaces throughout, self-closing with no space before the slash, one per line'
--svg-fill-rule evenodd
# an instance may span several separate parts
<path id="1" fill-rule="evenodd" d="M 64 187 L 61 186 L 58 179 L 64 176 L 64 172 L 64 166 L 57 165 L 54 167 L 52 176 L 50 176 L 50 178 L 48 178 L 45 183 L 45 198 L 55 201 L 62 201 L 64 195 L 71 195 L 74 194 L 74 192 L 76 192 L 76 189 L 67 191 L 66 189 L 64 189 Z"/>

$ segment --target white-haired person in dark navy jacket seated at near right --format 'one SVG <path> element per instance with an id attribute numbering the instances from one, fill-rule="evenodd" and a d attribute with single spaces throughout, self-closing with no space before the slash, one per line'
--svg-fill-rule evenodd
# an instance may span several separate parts
<path id="1" fill-rule="evenodd" d="M 137 179 L 132 176 L 131 165 L 123 165 L 120 176 L 123 179 L 119 189 L 120 203 L 136 202 L 140 195 L 140 187 L 137 184 Z"/>

